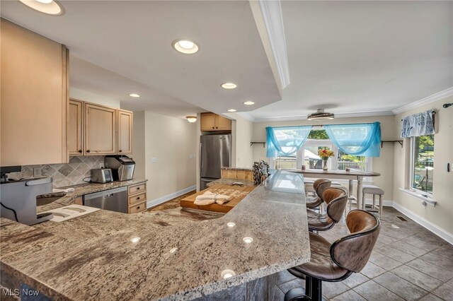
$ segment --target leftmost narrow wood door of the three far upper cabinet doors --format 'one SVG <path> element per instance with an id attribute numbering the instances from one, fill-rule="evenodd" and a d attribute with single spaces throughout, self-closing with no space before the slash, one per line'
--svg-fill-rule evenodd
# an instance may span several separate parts
<path id="1" fill-rule="evenodd" d="M 82 124 L 84 102 L 69 100 L 68 143 L 69 155 L 83 155 Z"/>

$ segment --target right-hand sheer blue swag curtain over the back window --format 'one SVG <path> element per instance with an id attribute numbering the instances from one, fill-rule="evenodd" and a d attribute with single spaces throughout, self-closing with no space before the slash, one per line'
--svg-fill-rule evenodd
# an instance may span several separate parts
<path id="1" fill-rule="evenodd" d="M 379 157 L 381 148 L 381 124 L 325 125 L 326 133 L 341 151 L 350 155 Z"/>

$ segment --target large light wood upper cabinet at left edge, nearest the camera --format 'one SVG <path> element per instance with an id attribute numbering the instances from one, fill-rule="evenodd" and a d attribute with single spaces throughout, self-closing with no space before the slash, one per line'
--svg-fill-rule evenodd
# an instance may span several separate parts
<path id="1" fill-rule="evenodd" d="M 67 163 L 69 50 L 1 18 L 1 166 Z"/>

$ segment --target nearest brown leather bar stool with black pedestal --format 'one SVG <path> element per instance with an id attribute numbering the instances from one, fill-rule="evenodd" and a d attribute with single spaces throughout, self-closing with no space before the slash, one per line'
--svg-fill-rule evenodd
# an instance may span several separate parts
<path id="1" fill-rule="evenodd" d="M 338 282 L 352 273 L 360 273 L 368 262 L 381 228 L 379 219 L 362 210 L 352 210 L 346 217 L 350 235 L 331 244 L 325 238 L 309 232 L 311 259 L 289 268 L 289 273 L 305 278 L 305 290 L 293 288 L 285 301 L 321 300 L 322 281 Z"/>

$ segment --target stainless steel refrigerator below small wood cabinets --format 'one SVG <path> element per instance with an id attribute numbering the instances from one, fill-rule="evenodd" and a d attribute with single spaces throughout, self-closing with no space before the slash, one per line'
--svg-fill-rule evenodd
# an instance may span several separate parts
<path id="1" fill-rule="evenodd" d="M 222 177 L 220 167 L 231 167 L 231 134 L 200 136 L 200 190 Z"/>

